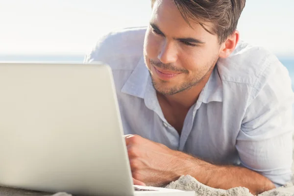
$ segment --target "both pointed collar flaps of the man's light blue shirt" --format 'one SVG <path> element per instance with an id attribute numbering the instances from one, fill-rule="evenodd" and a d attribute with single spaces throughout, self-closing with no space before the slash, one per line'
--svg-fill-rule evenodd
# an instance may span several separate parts
<path id="1" fill-rule="evenodd" d="M 216 65 L 199 95 L 199 101 L 203 103 L 209 103 L 211 101 L 222 102 L 222 81 L 217 67 Z M 155 90 L 153 92 L 150 88 L 153 88 L 153 86 L 149 71 L 144 62 L 144 56 L 142 56 L 138 65 L 124 83 L 121 92 L 138 98 L 145 98 L 146 93 L 149 94 L 152 92 L 154 94 Z"/>

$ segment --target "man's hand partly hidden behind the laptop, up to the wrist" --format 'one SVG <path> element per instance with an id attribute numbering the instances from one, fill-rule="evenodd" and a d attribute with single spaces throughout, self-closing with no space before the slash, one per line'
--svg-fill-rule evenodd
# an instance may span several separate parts
<path id="1" fill-rule="evenodd" d="M 180 176 L 178 151 L 138 135 L 125 135 L 125 142 L 134 184 L 163 186 Z"/>

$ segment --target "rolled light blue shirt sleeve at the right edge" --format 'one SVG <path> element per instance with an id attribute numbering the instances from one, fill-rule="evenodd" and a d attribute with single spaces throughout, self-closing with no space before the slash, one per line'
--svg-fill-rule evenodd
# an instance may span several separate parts
<path id="1" fill-rule="evenodd" d="M 280 62 L 261 75 L 252 90 L 236 148 L 244 167 L 278 187 L 292 178 L 294 94 L 289 73 Z"/>

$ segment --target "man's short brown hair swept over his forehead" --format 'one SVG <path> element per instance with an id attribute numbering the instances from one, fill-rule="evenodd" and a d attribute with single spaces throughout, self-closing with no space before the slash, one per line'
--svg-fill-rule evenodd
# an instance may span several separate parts
<path id="1" fill-rule="evenodd" d="M 156 0 L 151 0 L 151 6 Z M 199 23 L 207 32 L 216 34 L 223 43 L 238 25 L 246 0 L 172 0 L 184 20 L 191 26 L 189 19 Z M 203 22 L 213 24 L 212 32 Z"/>

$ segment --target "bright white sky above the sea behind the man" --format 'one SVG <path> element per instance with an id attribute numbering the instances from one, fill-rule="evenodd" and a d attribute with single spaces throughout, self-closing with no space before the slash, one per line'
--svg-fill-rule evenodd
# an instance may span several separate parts
<path id="1" fill-rule="evenodd" d="M 109 31 L 146 26 L 150 0 L 0 0 L 0 54 L 85 54 Z M 246 0 L 241 39 L 294 57 L 294 0 Z"/>

